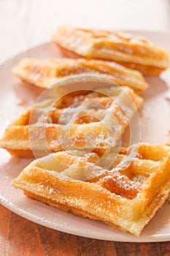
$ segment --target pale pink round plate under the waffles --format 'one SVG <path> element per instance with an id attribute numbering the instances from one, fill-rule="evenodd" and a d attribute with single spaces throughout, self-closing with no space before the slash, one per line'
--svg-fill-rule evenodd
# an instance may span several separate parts
<path id="1" fill-rule="evenodd" d="M 169 33 L 130 32 L 143 35 L 170 52 Z M 21 53 L 1 65 L 0 136 L 7 124 L 22 113 L 28 105 L 31 105 L 42 92 L 41 89 L 24 85 L 18 78 L 13 77 L 11 74 L 12 67 L 24 57 L 50 58 L 57 56 L 61 56 L 58 48 L 52 42 L 47 42 Z M 170 129 L 170 87 L 168 84 L 170 83 L 170 70 L 163 72 L 161 77 L 147 77 L 146 79 L 150 88 L 142 94 L 144 104 L 139 111 L 142 127 L 141 141 L 166 143 Z M 128 130 L 123 136 L 127 135 Z M 11 182 L 29 162 L 31 159 L 11 157 L 7 151 L 0 149 L 0 202 L 16 214 L 43 226 L 88 238 L 125 242 L 170 241 L 170 204 L 168 203 L 165 203 L 150 223 L 144 227 L 141 236 L 136 237 L 109 227 L 103 222 L 73 216 L 36 200 L 26 198 L 20 189 L 12 187 Z"/>

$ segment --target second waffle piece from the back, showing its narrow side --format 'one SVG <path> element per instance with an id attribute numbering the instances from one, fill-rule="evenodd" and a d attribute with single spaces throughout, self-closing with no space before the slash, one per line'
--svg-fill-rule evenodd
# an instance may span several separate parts
<path id="1" fill-rule="evenodd" d="M 132 87 L 136 92 L 147 89 L 147 82 L 139 72 L 109 61 L 85 59 L 23 59 L 13 69 L 15 75 L 35 86 L 47 88 L 71 75 L 100 75 L 120 86 Z"/>

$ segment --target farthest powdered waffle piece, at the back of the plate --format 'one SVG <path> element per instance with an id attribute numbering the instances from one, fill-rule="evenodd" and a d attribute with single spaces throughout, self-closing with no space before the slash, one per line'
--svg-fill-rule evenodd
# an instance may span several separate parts
<path id="1" fill-rule="evenodd" d="M 120 31 L 61 26 L 53 34 L 53 42 L 66 56 L 116 61 L 144 75 L 159 75 L 170 65 L 166 50 L 152 45 L 143 37 L 133 37 Z"/>

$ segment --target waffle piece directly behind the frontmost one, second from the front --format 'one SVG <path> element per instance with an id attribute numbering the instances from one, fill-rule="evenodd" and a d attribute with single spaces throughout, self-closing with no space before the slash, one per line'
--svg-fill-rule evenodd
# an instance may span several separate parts
<path id="1" fill-rule="evenodd" d="M 7 127 L 0 146 L 20 157 L 77 148 L 104 154 L 120 139 L 142 98 L 119 86 L 79 93 L 26 110 Z"/>

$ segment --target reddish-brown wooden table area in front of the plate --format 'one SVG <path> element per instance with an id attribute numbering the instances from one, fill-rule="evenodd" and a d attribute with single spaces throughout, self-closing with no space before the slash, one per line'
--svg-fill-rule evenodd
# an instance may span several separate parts
<path id="1" fill-rule="evenodd" d="M 170 256 L 170 242 L 122 243 L 61 233 L 0 205 L 0 256 Z"/>

